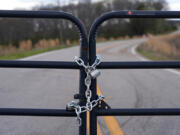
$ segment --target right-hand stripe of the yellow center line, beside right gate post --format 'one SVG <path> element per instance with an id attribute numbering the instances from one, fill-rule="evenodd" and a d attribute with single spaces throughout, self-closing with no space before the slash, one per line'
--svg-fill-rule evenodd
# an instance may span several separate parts
<path id="1" fill-rule="evenodd" d="M 97 94 L 103 95 L 98 86 L 97 86 Z M 120 128 L 119 123 L 114 116 L 106 116 L 104 117 L 104 120 L 111 135 L 124 135 L 123 130 Z"/>

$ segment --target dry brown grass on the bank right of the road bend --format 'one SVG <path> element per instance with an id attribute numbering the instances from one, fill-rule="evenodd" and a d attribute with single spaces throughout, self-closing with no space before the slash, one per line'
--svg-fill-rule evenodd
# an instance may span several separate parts
<path id="1" fill-rule="evenodd" d="M 138 49 L 161 55 L 163 57 L 180 59 L 180 34 L 150 36 L 149 40 Z"/>

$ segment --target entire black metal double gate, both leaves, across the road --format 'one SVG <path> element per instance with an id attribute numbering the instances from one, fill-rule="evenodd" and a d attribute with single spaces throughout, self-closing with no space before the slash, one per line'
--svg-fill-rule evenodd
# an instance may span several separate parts
<path id="1" fill-rule="evenodd" d="M 80 58 L 85 65 L 92 65 L 96 59 L 96 31 L 98 27 L 106 20 L 112 18 L 180 18 L 180 11 L 114 11 L 99 17 L 91 27 L 89 33 L 89 43 L 86 30 L 79 19 L 65 12 L 55 11 L 7 11 L 1 10 L 0 17 L 10 18 L 46 18 L 46 19 L 67 19 L 72 21 L 80 31 L 81 51 Z M 49 68 L 49 69 L 79 69 L 80 85 L 79 94 L 75 96 L 79 99 L 79 105 L 85 106 L 84 80 L 86 72 L 84 68 L 75 62 L 66 61 L 0 61 L 1 68 Z M 180 68 L 179 61 L 159 61 L 159 62 L 102 62 L 97 66 L 98 69 L 162 69 L 162 68 Z M 97 99 L 96 79 L 91 80 L 90 89 L 92 91 L 92 100 Z M 103 101 L 104 102 L 104 101 Z M 104 105 L 105 102 L 104 102 Z M 22 108 L 0 108 L 0 115 L 4 116 L 48 116 L 48 117 L 76 117 L 74 111 L 66 109 L 22 109 Z M 171 116 L 180 115 L 179 108 L 159 108 L 159 109 L 111 109 L 98 107 L 90 112 L 90 135 L 97 135 L 97 117 L 98 116 Z M 86 112 L 80 115 L 82 124 L 79 127 L 79 135 L 86 134 Z"/>

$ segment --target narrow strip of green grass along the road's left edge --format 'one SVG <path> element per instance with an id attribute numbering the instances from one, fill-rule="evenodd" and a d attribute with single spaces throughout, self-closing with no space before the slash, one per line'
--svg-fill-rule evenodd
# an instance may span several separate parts
<path id="1" fill-rule="evenodd" d="M 11 53 L 8 55 L 2 55 L 2 56 L 0 56 L 0 59 L 1 60 L 15 60 L 15 59 L 25 58 L 28 56 L 33 56 L 36 54 L 45 53 L 45 52 L 49 52 L 49 51 L 53 51 L 53 50 L 59 50 L 59 49 L 67 48 L 67 47 L 70 47 L 70 46 L 61 45 L 61 46 L 57 46 L 57 47 L 53 47 L 53 48 L 33 49 L 30 51 L 17 51 L 15 53 Z"/>

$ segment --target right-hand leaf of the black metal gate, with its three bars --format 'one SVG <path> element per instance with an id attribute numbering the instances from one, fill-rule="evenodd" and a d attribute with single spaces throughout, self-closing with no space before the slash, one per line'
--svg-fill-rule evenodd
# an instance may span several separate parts
<path id="1" fill-rule="evenodd" d="M 180 11 L 113 11 L 108 12 L 100 16 L 95 20 L 93 25 L 91 26 L 90 33 L 89 33 L 89 64 L 92 65 L 96 59 L 96 32 L 99 26 L 106 20 L 113 19 L 113 18 L 180 18 Z M 168 65 L 166 65 L 168 64 Z M 149 63 L 149 62 L 102 62 L 98 68 L 101 69 L 123 69 L 123 68 L 167 68 L 167 67 L 180 67 L 180 62 L 161 62 L 161 63 Z M 97 80 L 92 80 L 91 90 L 92 90 L 92 100 L 96 99 L 97 89 L 96 89 Z M 97 108 L 94 108 L 90 112 L 90 135 L 97 135 L 97 115 L 121 115 L 123 114 L 122 109 L 119 110 L 103 110 L 99 111 Z M 129 110 L 125 110 L 125 113 Z M 149 110 L 140 110 L 142 114 L 148 113 Z M 167 111 L 167 110 L 162 110 Z M 173 110 L 172 110 L 173 111 Z M 177 111 L 177 110 L 176 110 Z M 136 112 L 136 110 L 135 110 Z M 124 113 L 124 114 L 125 114 Z M 137 114 L 136 112 L 135 114 Z M 167 114 L 167 112 L 165 112 Z M 174 114 L 174 113 L 172 113 Z M 133 114 L 132 114 L 133 115 Z"/>

